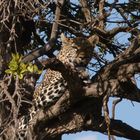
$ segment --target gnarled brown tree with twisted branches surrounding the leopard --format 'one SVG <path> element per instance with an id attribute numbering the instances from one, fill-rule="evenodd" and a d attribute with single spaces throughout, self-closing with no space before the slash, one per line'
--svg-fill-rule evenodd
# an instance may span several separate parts
<path id="1" fill-rule="evenodd" d="M 40 140 L 59 140 L 64 133 L 92 130 L 108 133 L 109 139 L 114 135 L 138 140 L 139 130 L 109 118 L 107 103 L 110 97 L 119 98 L 113 106 L 115 114 L 116 104 L 124 98 L 140 102 L 134 79 L 140 72 L 139 7 L 139 0 L 0 0 L 1 139 L 15 139 L 18 119 L 31 107 L 40 69 L 49 67 L 64 76 L 68 71 L 68 77 L 79 80 L 53 54 L 61 49 L 63 32 L 69 37 L 98 38 L 87 68 L 90 82 L 79 82 L 79 91 L 77 82 L 71 83 L 77 94 L 67 91 L 47 112 L 40 111 L 30 133 Z M 122 32 L 129 34 L 127 44 L 117 38 Z"/>

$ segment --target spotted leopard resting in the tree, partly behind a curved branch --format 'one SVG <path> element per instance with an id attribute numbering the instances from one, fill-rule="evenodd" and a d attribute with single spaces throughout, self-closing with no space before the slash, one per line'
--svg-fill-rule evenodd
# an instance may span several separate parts
<path id="1" fill-rule="evenodd" d="M 93 49 L 96 41 L 93 41 L 91 37 L 70 38 L 66 37 L 63 33 L 60 38 L 62 47 L 56 59 L 64 65 L 75 69 L 79 74 L 83 73 L 83 71 L 85 72 L 86 66 L 93 57 Z M 87 78 L 87 74 L 86 76 L 82 76 L 82 74 L 80 76 Z M 61 72 L 47 69 L 41 84 L 38 85 L 34 91 L 33 105 L 29 114 L 23 116 L 19 121 L 19 140 L 27 139 L 27 129 L 37 111 L 40 109 L 46 110 L 54 105 L 66 90 L 68 90 L 68 83 L 63 78 Z"/>

